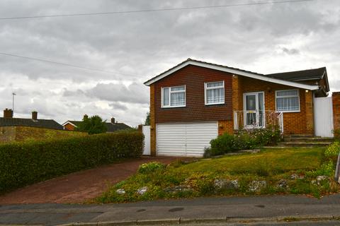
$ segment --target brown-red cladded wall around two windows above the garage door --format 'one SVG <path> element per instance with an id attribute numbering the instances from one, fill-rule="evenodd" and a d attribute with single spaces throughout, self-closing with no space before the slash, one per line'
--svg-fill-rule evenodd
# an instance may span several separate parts
<path id="1" fill-rule="evenodd" d="M 225 81 L 225 104 L 205 105 L 204 83 Z M 186 85 L 186 107 L 162 108 L 161 88 Z M 199 66 L 186 66 L 154 83 L 155 122 L 232 120 L 232 75 Z"/>

